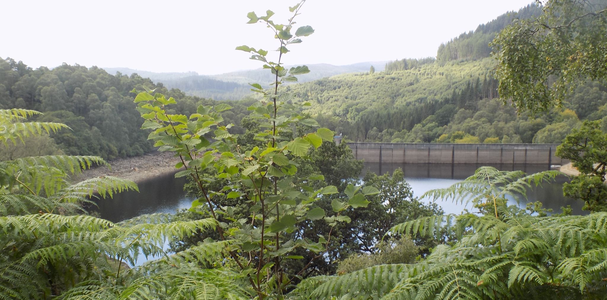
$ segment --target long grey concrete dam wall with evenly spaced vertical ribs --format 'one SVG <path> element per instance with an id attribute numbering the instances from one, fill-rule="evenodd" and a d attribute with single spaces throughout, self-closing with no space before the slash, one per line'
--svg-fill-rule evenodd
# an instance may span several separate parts
<path id="1" fill-rule="evenodd" d="M 559 144 L 392 144 L 348 142 L 354 158 L 365 162 L 407 164 L 546 164 L 564 165 L 568 159 L 554 152 Z"/>

